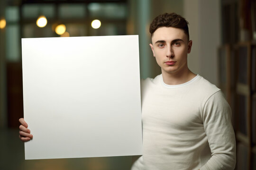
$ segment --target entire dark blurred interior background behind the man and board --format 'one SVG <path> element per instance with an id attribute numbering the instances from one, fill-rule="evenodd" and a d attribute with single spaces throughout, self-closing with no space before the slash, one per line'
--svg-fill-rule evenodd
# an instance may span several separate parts
<path id="1" fill-rule="evenodd" d="M 255 0 L 0 0 L 0 170 L 129 170 L 131 156 L 24 160 L 21 38 L 138 34 L 141 78 L 155 77 L 148 29 L 165 12 L 189 21 L 189 68 L 232 108 L 236 169 L 256 170 L 255 11 Z"/>

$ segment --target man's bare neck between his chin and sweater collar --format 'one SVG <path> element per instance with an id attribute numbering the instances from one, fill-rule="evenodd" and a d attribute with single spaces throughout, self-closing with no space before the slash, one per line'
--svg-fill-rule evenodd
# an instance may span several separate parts
<path id="1" fill-rule="evenodd" d="M 175 72 L 175 73 L 167 73 L 162 70 L 162 76 L 165 84 L 167 85 L 180 85 L 190 81 L 192 78 L 196 76 L 196 74 L 192 73 L 189 69 L 183 72 Z"/>

